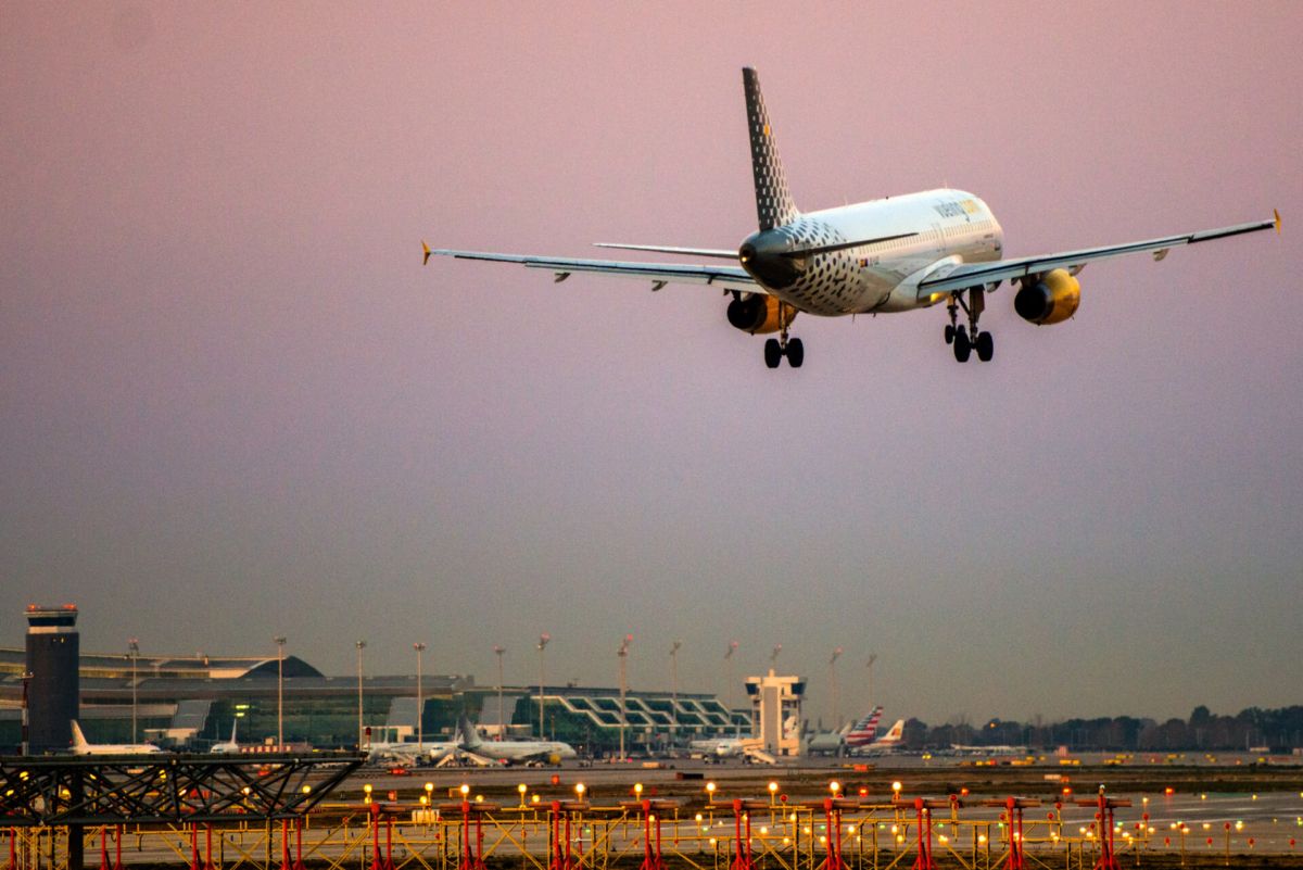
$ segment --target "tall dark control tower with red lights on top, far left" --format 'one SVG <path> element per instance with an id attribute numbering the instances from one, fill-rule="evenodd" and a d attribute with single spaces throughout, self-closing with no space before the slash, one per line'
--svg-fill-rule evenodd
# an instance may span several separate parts
<path id="1" fill-rule="evenodd" d="M 27 741 L 33 755 L 68 749 L 78 716 L 81 636 L 77 607 L 27 606 Z"/>

